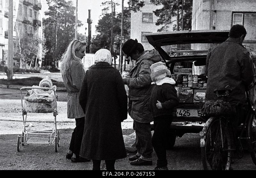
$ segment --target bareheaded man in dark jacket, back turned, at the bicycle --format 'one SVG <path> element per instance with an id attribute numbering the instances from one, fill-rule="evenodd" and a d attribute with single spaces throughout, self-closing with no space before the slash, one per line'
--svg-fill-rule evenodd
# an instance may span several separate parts
<path id="1" fill-rule="evenodd" d="M 233 118 L 234 130 L 243 116 L 246 102 L 245 90 L 253 81 L 253 71 L 249 51 L 242 45 L 246 30 L 242 25 L 233 25 L 228 39 L 208 51 L 206 57 L 207 88 L 206 100 L 218 100 L 213 91 L 229 87 L 232 91 L 228 98 L 221 100 L 237 103 L 236 117 Z"/>

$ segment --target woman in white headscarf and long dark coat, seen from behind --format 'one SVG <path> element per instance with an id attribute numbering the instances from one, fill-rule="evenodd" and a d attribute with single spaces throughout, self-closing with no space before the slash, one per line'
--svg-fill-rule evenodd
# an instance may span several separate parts
<path id="1" fill-rule="evenodd" d="M 92 159 L 92 170 L 100 170 L 101 160 L 114 170 L 116 159 L 126 157 L 121 122 L 127 119 L 127 95 L 110 52 L 100 49 L 94 60 L 98 62 L 85 72 L 79 93 L 85 113 L 80 157 Z"/>

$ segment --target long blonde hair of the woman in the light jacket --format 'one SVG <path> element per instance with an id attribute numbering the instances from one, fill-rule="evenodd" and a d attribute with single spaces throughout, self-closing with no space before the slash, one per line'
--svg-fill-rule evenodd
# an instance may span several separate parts
<path id="1" fill-rule="evenodd" d="M 79 51 L 85 45 L 85 41 L 79 40 L 73 40 L 69 43 L 68 48 L 61 57 L 61 73 L 66 73 L 68 71 L 73 60 L 83 65 L 82 60 L 75 55 L 75 51 Z"/>

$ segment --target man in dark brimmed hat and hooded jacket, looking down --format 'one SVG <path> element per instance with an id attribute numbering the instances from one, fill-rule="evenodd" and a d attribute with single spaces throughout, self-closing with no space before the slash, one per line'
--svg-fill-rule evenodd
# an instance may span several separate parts
<path id="1" fill-rule="evenodd" d="M 134 166 L 152 165 L 153 147 L 151 143 L 151 113 L 147 110 L 148 99 L 151 94 L 151 71 L 153 63 L 160 62 L 161 57 L 155 50 L 144 51 L 137 39 L 127 40 L 122 48 L 126 58 L 131 57 L 136 64 L 130 71 L 130 78 L 124 78 L 124 84 L 129 87 L 128 113 L 133 119 L 133 129 L 136 133 L 137 154 L 130 157 L 130 164 Z"/>

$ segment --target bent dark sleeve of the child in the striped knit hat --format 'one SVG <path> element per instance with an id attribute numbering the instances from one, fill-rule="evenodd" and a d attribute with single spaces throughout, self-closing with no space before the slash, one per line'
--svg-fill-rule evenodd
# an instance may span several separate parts
<path id="1" fill-rule="evenodd" d="M 164 109 L 172 109 L 179 104 L 177 91 L 172 85 L 164 85 L 162 94 L 167 99 L 165 102 L 161 103 Z"/>

